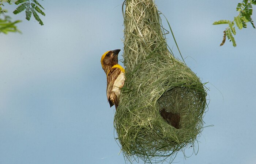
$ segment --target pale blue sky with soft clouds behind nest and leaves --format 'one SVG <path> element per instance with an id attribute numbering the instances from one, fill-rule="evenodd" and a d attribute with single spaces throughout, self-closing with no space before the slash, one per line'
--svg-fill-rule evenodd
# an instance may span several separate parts
<path id="1" fill-rule="evenodd" d="M 236 48 L 220 47 L 226 25 L 212 25 L 237 16 L 239 2 L 155 0 L 185 62 L 210 88 L 204 122 L 214 126 L 204 128 L 197 155 L 187 149 L 192 156 L 180 152 L 177 163 L 256 163 L 256 30 L 248 24 Z M 41 1 L 44 26 L 11 14 L 23 22 L 22 34 L 0 34 L 0 164 L 125 164 L 100 64 L 105 51 L 123 49 L 122 3 Z M 171 35 L 167 43 L 174 46 Z"/>

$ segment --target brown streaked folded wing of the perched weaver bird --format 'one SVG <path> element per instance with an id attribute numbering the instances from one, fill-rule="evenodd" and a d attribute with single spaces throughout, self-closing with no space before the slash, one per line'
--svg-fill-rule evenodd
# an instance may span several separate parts
<path id="1" fill-rule="evenodd" d="M 120 74 L 120 69 L 115 67 L 109 70 L 108 76 L 107 76 L 107 98 L 109 101 L 110 93 L 112 91 L 114 82 L 118 75 Z"/>

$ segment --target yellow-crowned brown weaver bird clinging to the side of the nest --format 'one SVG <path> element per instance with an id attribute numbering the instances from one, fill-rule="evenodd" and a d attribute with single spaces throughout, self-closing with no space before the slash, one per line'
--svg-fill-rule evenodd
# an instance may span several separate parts
<path id="1" fill-rule="evenodd" d="M 107 98 L 110 107 L 119 104 L 119 95 L 124 86 L 124 68 L 118 65 L 118 53 L 121 50 L 105 52 L 101 57 L 101 66 L 107 75 Z"/>

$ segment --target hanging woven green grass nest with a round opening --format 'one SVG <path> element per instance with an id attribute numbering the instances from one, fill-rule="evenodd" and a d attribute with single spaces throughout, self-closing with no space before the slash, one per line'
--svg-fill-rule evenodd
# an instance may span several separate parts
<path id="1" fill-rule="evenodd" d="M 126 80 L 114 126 L 125 157 L 162 162 L 195 142 L 207 94 L 167 49 L 153 0 L 126 0 L 125 7 Z"/>

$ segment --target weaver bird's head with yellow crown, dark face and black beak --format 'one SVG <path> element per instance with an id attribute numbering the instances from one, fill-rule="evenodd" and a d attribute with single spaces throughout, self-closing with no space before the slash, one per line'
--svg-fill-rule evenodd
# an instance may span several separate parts
<path id="1" fill-rule="evenodd" d="M 118 53 L 120 49 L 107 51 L 101 56 L 101 66 L 104 69 L 105 67 L 112 67 L 113 65 L 118 64 Z M 110 67 L 110 68 L 111 68 Z M 104 69 L 105 70 L 105 69 Z"/>

